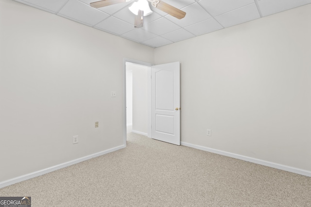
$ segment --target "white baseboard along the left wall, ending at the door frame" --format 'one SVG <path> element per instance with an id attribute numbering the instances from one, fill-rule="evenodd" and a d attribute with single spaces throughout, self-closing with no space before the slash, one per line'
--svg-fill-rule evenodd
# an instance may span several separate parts
<path id="1" fill-rule="evenodd" d="M 68 161 L 68 162 L 64 162 L 62 164 L 55 165 L 55 166 L 52 166 L 52 167 L 49 167 L 49 168 L 46 168 L 46 169 L 43 169 L 43 170 L 35 171 L 33 173 L 29 173 L 29 174 L 26 174 L 26 175 L 21 175 L 21 176 L 18 176 L 18 177 L 9 179 L 9 180 L 4 180 L 4 181 L 0 182 L 0 188 L 4 188 L 6 186 L 13 185 L 15 183 L 18 183 L 18 182 L 21 182 L 21 181 L 24 181 L 24 180 L 28 180 L 30 178 L 34 178 L 36 176 L 40 176 L 40 175 L 44 175 L 44 174 L 47 174 L 47 173 L 51 173 L 51 172 L 53 172 L 55 170 L 59 170 L 61 168 L 65 168 L 65 167 L 68 167 L 68 166 L 73 165 L 73 164 L 77 164 L 77 163 L 85 161 L 87 159 L 92 159 L 92 158 L 95 158 L 95 157 L 98 157 L 98 156 L 102 156 L 104 154 L 117 151 L 117 150 L 122 149 L 124 147 L 125 147 L 124 145 L 120 145 L 120 146 L 117 146 L 117 147 L 114 147 L 114 148 L 111 148 L 111 149 L 107 149 L 107 150 L 104 150 L 104 151 L 101 151 L 101 152 L 98 152 L 98 153 L 94 153 L 92 155 L 88 155 L 88 156 L 85 156 L 85 157 L 82 157 L 82 158 L 79 158 L 79 159 L 74 159 L 74 160 L 71 160 L 71 161 Z"/>

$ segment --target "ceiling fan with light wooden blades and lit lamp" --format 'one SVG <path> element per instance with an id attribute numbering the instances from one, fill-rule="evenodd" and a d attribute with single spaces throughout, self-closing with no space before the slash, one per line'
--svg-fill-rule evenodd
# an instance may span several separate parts
<path id="1" fill-rule="evenodd" d="M 100 0 L 90 3 L 91 7 L 100 8 L 104 6 L 109 6 L 116 3 L 129 2 L 131 0 Z M 172 5 L 163 2 L 162 0 L 148 0 L 151 2 L 152 6 L 171 15 L 178 19 L 182 19 L 186 16 L 186 12 L 181 11 L 173 7 Z M 144 18 L 143 16 L 150 15 L 152 10 L 149 7 L 147 0 L 136 0 L 130 7 L 129 10 L 136 15 L 135 17 L 135 28 L 141 28 L 143 26 Z"/>

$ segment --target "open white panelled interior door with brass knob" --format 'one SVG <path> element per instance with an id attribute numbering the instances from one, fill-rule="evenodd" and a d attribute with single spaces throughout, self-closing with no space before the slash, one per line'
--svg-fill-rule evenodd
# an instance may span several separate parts
<path id="1" fill-rule="evenodd" d="M 180 63 L 151 67 L 151 138 L 180 145 Z"/>

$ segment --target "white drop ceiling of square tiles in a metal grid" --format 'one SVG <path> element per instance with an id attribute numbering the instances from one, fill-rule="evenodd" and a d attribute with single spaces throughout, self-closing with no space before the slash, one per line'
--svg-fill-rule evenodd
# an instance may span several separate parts
<path id="1" fill-rule="evenodd" d="M 311 0 L 163 0 L 186 12 L 186 16 L 177 19 L 150 5 L 153 13 L 145 16 L 142 28 L 136 29 L 135 15 L 128 9 L 134 0 L 99 9 L 89 6 L 97 0 L 16 1 L 153 48 L 311 3 Z"/>

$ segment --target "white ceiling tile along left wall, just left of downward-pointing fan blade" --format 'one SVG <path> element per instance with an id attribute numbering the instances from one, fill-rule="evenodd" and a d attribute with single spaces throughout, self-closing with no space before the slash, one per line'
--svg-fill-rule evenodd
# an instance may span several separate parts
<path id="1" fill-rule="evenodd" d="M 135 30 L 132 24 L 129 24 L 113 16 L 106 18 L 104 21 L 97 24 L 94 28 L 98 28 L 118 35 L 129 32 L 131 30 Z"/>

